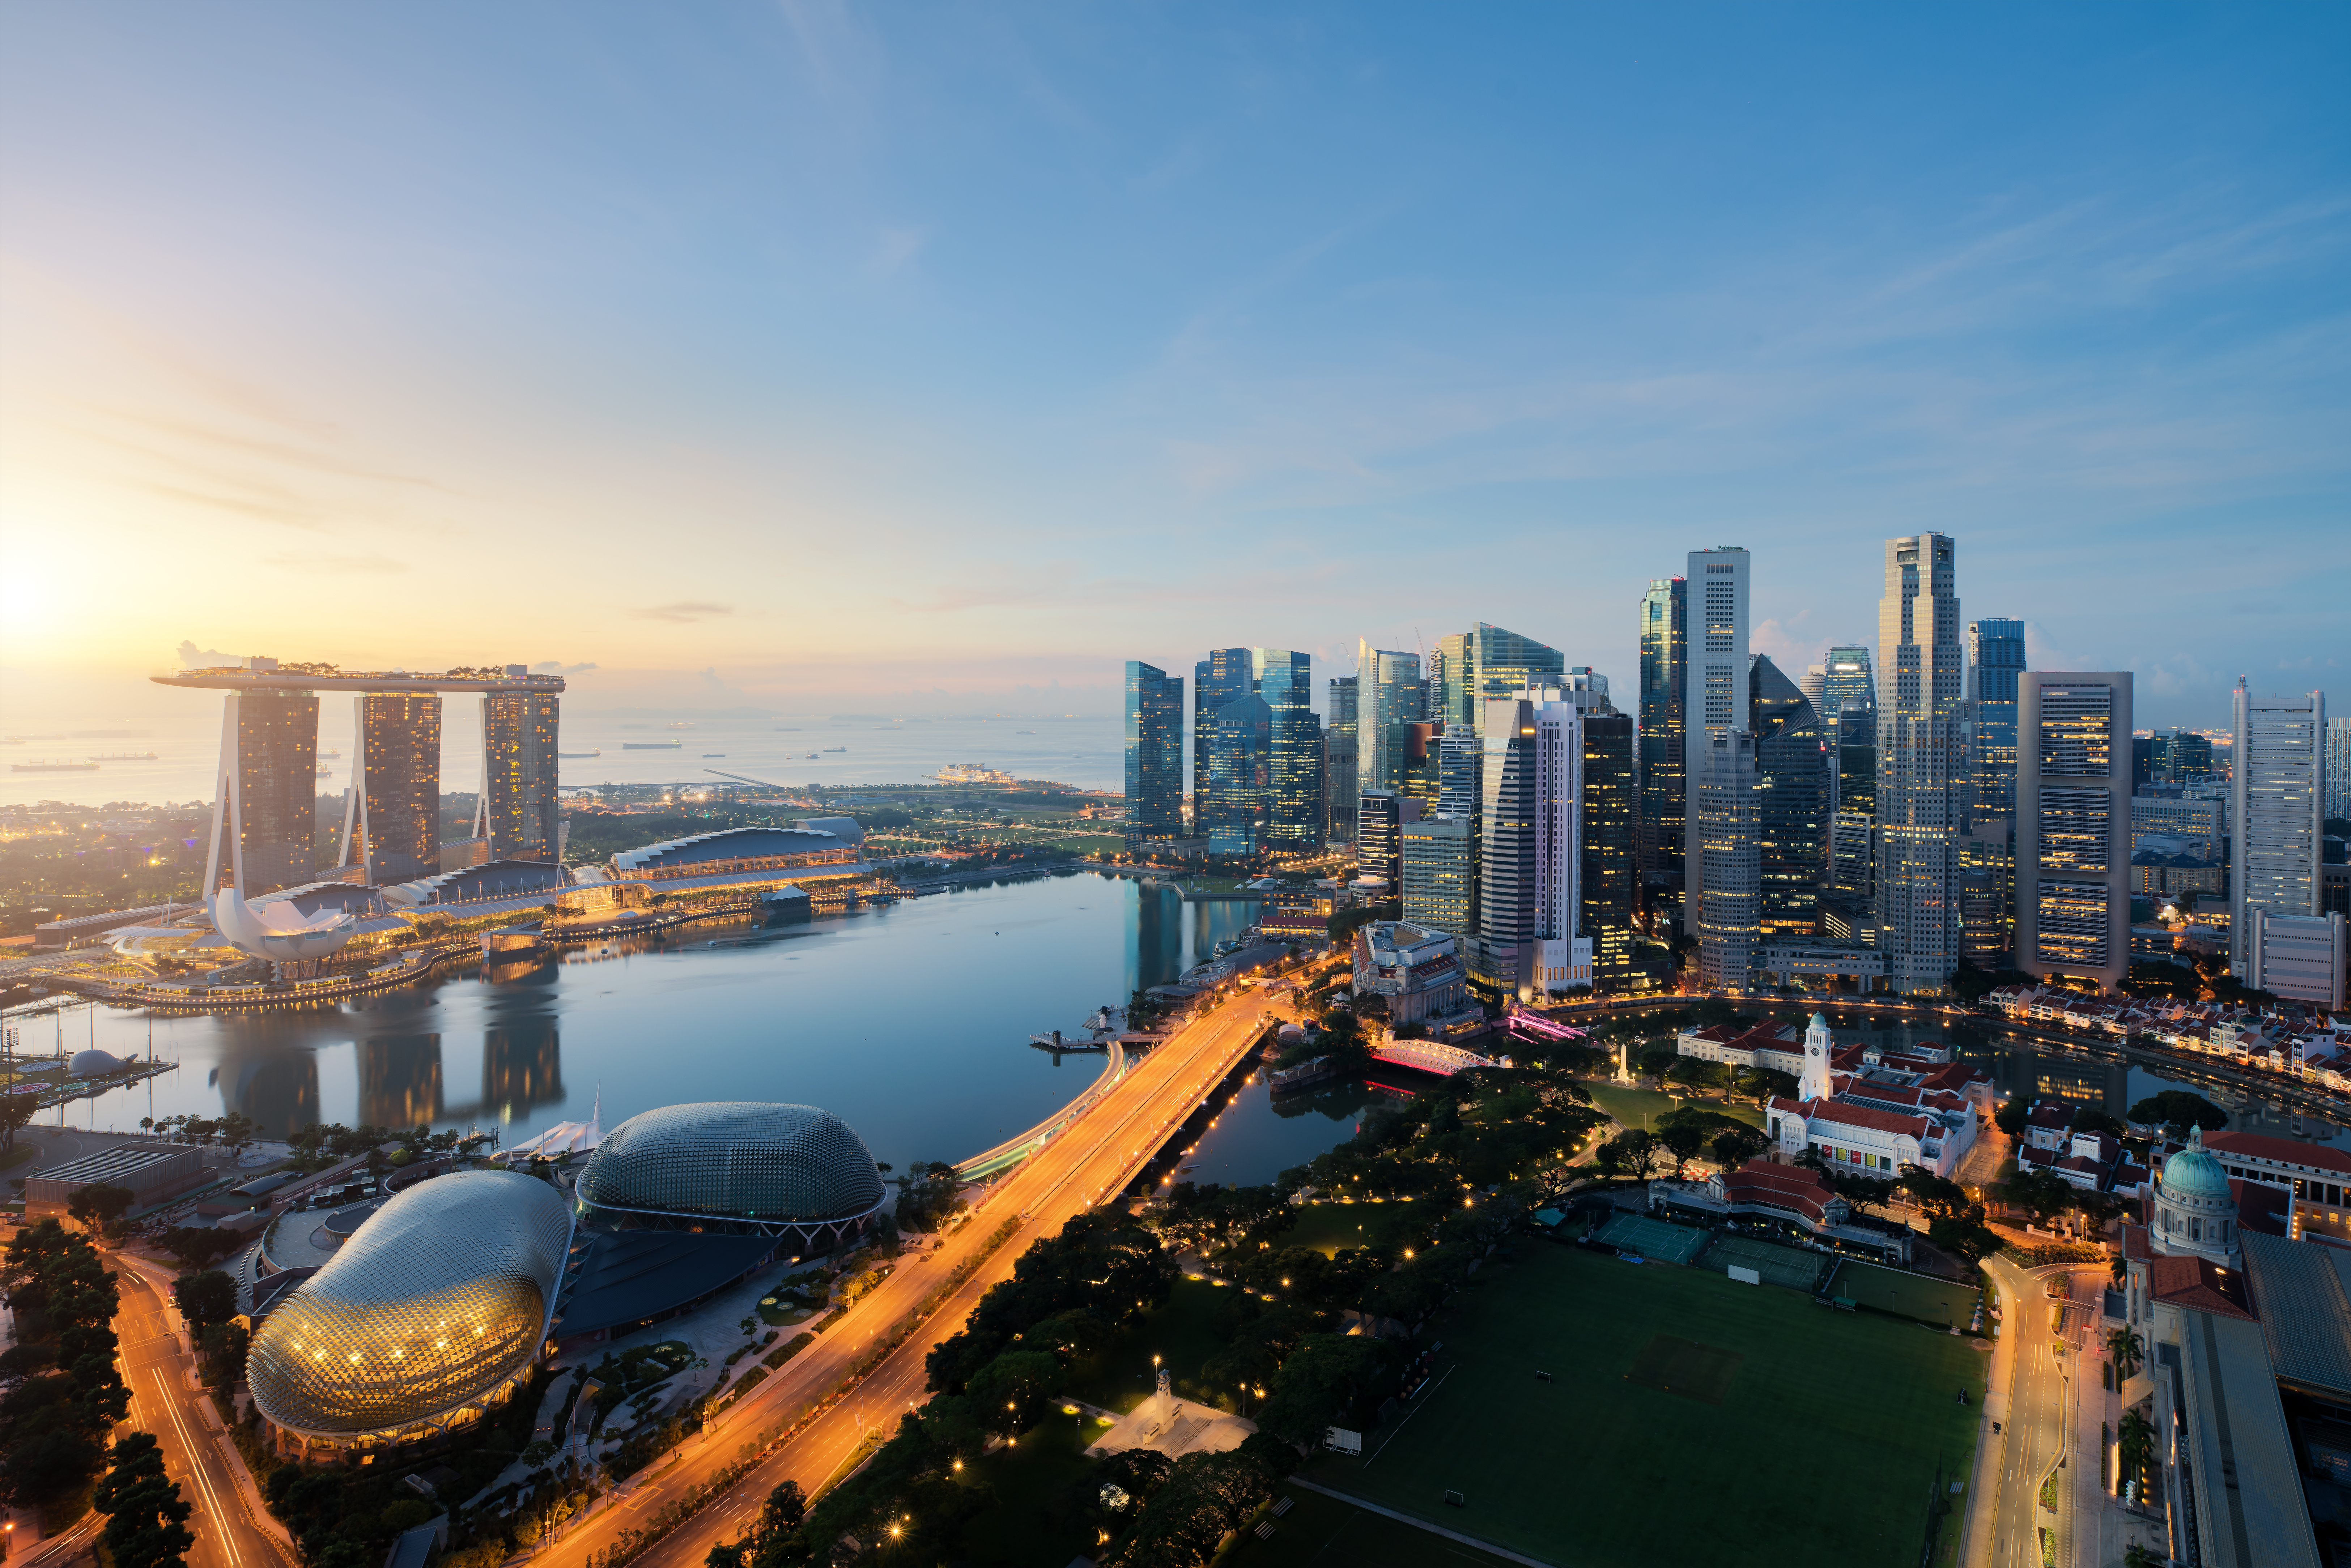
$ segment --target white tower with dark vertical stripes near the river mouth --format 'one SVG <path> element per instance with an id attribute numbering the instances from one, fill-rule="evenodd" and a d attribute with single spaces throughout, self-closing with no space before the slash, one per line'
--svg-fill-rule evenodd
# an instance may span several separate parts
<path id="1" fill-rule="evenodd" d="M 1505 997 L 1592 983 L 1582 910 L 1582 708 L 1556 686 L 1486 698 L 1472 978 Z"/>

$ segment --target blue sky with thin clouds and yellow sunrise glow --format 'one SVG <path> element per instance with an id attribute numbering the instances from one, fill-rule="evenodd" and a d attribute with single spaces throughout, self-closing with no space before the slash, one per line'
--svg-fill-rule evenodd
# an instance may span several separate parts
<path id="1" fill-rule="evenodd" d="M 2342 7 L 106 5 L 0 21 L 0 729 L 190 654 L 1114 712 L 1620 686 L 1958 541 L 2139 724 L 2351 703 Z"/>

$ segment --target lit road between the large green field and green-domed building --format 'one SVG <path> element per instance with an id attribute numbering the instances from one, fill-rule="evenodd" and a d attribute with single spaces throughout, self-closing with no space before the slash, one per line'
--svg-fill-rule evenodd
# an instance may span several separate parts
<path id="1" fill-rule="evenodd" d="M 2088 1465 L 2097 1474 L 2095 1446 L 2076 1441 L 2076 1399 L 2071 1378 L 2076 1368 L 2097 1361 L 2090 1349 L 2102 1312 L 2104 1269 L 2027 1269 L 2008 1258 L 1987 1258 L 1984 1272 L 2001 1291 L 2001 1338 L 2008 1340 L 2008 1387 L 1996 1406 L 2001 1434 L 1994 1465 L 1991 1530 L 1972 1542 L 1975 1566 L 1991 1568 L 2041 1568 L 2041 1528 L 2055 1530 L 2057 1561 L 2074 1561 L 2076 1526 L 2090 1530 L 2097 1542 L 2097 1521 L 2076 1519 L 2081 1474 Z M 2057 1284 L 2059 1298 L 2050 1298 Z M 2050 1309 L 2064 1300 L 2064 1333 L 2050 1333 Z M 2059 1458 L 2067 1467 L 2057 1469 Z M 2041 1481 L 2057 1472 L 2057 1509 L 2041 1507 Z"/>

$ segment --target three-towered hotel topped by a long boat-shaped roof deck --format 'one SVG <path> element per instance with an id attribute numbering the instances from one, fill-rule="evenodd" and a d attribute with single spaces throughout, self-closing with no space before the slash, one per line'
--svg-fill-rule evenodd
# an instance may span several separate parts
<path id="1" fill-rule="evenodd" d="M 247 658 L 237 668 L 153 679 L 228 693 L 207 891 L 228 875 L 247 898 L 317 877 L 317 703 L 343 691 L 357 715 L 336 879 L 386 886 L 489 860 L 562 863 L 560 675 L 531 675 L 527 665 L 353 672 Z M 473 837 L 442 844 L 442 696 L 451 691 L 480 693 L 484 778 Z"/>

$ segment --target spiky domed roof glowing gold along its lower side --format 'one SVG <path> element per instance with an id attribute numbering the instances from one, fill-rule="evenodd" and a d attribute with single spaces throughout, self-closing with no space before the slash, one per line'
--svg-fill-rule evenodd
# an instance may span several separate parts
<path id="1" fill-rule="evenodd" d="M 416 1182 L 261 1321 L 254 1403 L 329 1441 L 423 1436 L 475 1415 L 536 1361 L 569 1251 L 571 1208 L 543 1180 Z"/>

